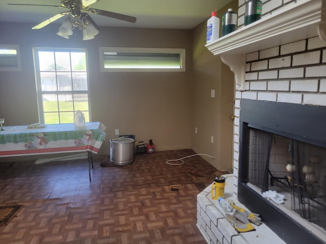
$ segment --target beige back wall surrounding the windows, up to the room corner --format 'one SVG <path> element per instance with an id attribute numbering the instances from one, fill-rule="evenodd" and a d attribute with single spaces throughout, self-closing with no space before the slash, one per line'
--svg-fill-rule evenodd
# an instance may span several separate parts
<path id="1" fill-rule="evenodd" d="M 1 44 L 18 44 L 22 72 L 0 72 L 1 116 L 7 126 L 38 121 L 33 47 L 87 48 L 93 121 L 106 127 L 101 154 L 110 153 L 108 140 L 134 134 L 152 139 L 157 150 L 191 147 L 192 38 L 190 30 L 101 27 L 90 41 L 56 35 L 53 24 L 32 30 L 28 24 L 1 24 Z M 167 47 L 186 49 L 186 72 L 108 73 L 99 71 L 98 47 Z"/>

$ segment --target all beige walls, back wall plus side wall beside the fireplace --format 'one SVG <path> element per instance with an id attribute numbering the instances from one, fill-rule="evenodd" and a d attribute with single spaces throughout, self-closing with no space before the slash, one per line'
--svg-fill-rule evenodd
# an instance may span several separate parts
<path id="1" fill-rule="evenodd" d="M 224 11 L 219 11 L 221 22 Z M 100 154 L 110 154 L 108 140 L 119 129 L 138 141 L 152 139 L 156 150 L 192 148 L 216 157 L 205 158 L 215 168 L 232 168 L 233 73 L 204 47 L 206 21 L 193 30 L 101 27 L 90 41 L 82 41 L 80 34 L 70 40 L 57 36 L 57 24 L 31 27 L 0 23 L 0 43 L 19 45 L 22 57 L 22 72 L 0 72 L 5 126 L 38 121 L 33 47 L 87 48 L 92 121 L 107 127 Z M 100 72 L 98 47 L 110 46 L 185 48 L 186 72 Z M 211 89 L 215 98 L 210 98 Z"/>

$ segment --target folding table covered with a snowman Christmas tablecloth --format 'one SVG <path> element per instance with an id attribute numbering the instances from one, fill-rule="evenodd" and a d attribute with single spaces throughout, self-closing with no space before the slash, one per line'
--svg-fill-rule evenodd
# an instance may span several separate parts
<path id="1" fill-rule="evenodd" d="M 100 122 L 86 123 L 83 129 L 76 129 L 74 124 L 32 129 L 28 126 L 7 126 L 0 131 L 0 157 L 87 151 L 92 161 L 92 153 L 98 153 L 105 139 L 105 129 Z M 89 175 L 91 179 L 90 164 Z"/>

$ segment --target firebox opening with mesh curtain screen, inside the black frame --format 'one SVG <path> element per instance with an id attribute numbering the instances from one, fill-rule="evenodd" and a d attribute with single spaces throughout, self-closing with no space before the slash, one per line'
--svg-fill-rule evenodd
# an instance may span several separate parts
<path id="1" fill-rule="evenodd" d="M 250 128 L 248 181 L 289 193 L 290 208 L 326 230 L 326 148 Z"/>

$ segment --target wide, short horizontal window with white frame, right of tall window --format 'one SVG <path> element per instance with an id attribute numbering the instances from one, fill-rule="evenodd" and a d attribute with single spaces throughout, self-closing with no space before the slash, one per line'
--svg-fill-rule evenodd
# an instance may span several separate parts
<path id="1" fill-rule="evenodd" d="M 100 47 L 101 72 L 184 72 L 185 49 Z"/>

